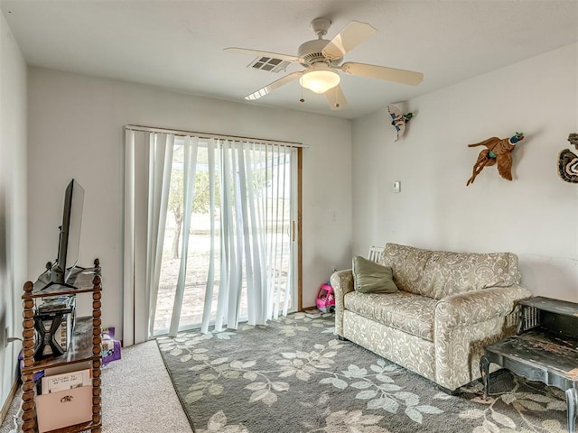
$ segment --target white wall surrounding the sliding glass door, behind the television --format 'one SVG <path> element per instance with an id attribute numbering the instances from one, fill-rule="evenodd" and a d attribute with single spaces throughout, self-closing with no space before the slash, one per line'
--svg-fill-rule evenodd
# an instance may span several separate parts
<path id="1" fill-rule="evenodd" d="M 158 88 L 29 71 L 29 278 L 56 253 L 64 188 L 86 190 L 79 263 L 103 266 L 103 325 L 121 329 L 124 129 L 141 124 L 301 142 L 303 305 L 313 306 L 331 268 L 349 256 L 350 122 Z M 335 214 L 335 215 L 334 215 Z M 347 260 L 350 258 L 348 257 Z"/>

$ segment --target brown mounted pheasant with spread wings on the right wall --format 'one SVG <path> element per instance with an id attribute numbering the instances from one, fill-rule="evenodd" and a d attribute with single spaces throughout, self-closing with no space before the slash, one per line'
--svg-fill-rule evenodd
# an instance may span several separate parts
<path id="1" fill-rule="evenodd" d="M 512 180 L 512 151 L 517 142 L 524 140 L 524 133 L 516 133 L 510 138 L 491 137 L 480 143 L 468 144 L 468 147 L 486 146 L 478 155 L 478 161 L 473 164 L 471 178 L 466 183 L 469 186 L 480 174 L 484 167 L 489 167 L 498 162 L 499 175 L 507 180 Z"/>

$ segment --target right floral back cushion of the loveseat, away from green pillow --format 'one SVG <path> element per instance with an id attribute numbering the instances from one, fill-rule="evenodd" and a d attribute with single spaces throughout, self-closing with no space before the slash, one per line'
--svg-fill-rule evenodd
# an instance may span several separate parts
<path id="1" fill-rule="evenodd" d="M 512 253 L 449 253 L 433 251 L 425 264 L 421 292 L 443 299 L 488 287 L 520 282 L 517 256 Z"/>

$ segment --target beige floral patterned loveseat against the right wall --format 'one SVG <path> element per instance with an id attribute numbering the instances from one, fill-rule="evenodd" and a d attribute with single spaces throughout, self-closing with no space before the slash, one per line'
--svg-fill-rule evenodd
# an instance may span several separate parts
<path id="1" fill-rule="evenodd" d="M 480 377 L 483 347 L 513 335 L 520 286 L 513 253 L 450 253 L 387 244 L 395 293 L 354 290 L 351 270 L 331 275 L 341 338 L 439 384 L 444 391 Z"/>

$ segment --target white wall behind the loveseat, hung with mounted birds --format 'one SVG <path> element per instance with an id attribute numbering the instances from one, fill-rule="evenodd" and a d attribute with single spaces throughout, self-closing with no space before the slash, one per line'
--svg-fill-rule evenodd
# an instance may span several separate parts
<path id="1" fill-rule="evenodd" d="M 396 143 L 386 109 L 356 120 L 353 253 L 386 242 L 509 251 L 536 295 L 578 301 L 578 184 L 557 175 L 558 153 L 578 132 L 577 58 L 572 44 L 407 101 L 399 106 L 416 116 Z M 513 152 L 514 180 L 489 167 L 466 187 L 481 150 L 467 144 L 517 131 L 526 139 Z"/>

